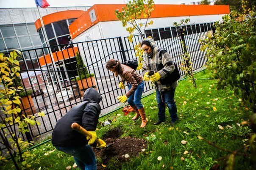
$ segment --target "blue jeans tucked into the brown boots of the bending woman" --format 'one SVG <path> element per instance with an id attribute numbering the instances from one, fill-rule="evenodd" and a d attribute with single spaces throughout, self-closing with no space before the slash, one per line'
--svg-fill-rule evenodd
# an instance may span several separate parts
<path id="1" fill-rule="evenodd" d="M 134 106 L 136 105 L 136 107 L 138 109 L 142 109 L 143 108 L 143 105 L 141 103 L 141 96 L 142 96 L 142 93 L 143 93 L 143 90 L 144 90 L 144 85 L 145 85 L 145 82 L 141 82 L 137 89 L 135 90 L 135 92 L 128 98 L 128 103 L 131 105 L 131 106 Z M 131 89 L 131 85 L 129 85 L 128 87 L 128 90 Z"/>

